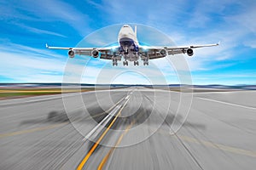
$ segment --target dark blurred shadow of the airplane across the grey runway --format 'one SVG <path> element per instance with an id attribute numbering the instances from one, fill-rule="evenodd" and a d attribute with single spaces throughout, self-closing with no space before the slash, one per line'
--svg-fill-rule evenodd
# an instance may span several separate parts
<path id="1" fill-rule="evenodd" d="M 20 122 L 20 125 L 25 125 L 25 124 L 42 124 L 42 123 L 61 123 L 61 122 L 70 122 L 71 120 L 79 120 L 80 123 L 84 122 L 90 122 L 90 121 L 95 121 L 97 123 L 102 122 L 102 120 L 108 116 L 108 113 L 104 112 L 101 108 L 93 108 L 90 110 L 90 116 L 84 116 L 83 111 L 76 111 L 67 116 L 66 111 L 50 111 L 47 115 L 46 118 L 38 118 L 38 119 L 31 119 L 31 120 L 26 120 Z M 116 122 L 113 124 L 111 129 L 119 129 L 119 130 L 125 130 L 125 127 L 127 127 L 131 122 L 133 123 L 133 127 L 137 127 L 138 125 L 143 124 L 148 120 L 148 117 L 153 113 L 150 109 L 144 108 L 141 106 L 136 113 L 134 113 L 131 116 L 126 116 L 126 117 L 118 117 L 116 119 Z M 153 120 L 149 122 L 146 122 L 148 126 L 150 125 L 155 125 L 155 124 L 166 124 L 167 126 L 171 126 L 173 121 L 174 121 L 175 116 L 172 114 L 167 114 L 165 121 L 164 122 L 159 122 L 159 120 Z M 175 122 L 182 122 L 183 117 L 182 116 L 176 116 L 176 121 Z M 105 127 L 108 127 L 110 122 L 107 123 Z M 206 129 L 206 125 L 200 124 L 200 123 L 195 123 L 195 122 L 184 122 L 183 123 L 184 127 L 191 127 L 191 128 L 201 128 L 201 129 Z"/>

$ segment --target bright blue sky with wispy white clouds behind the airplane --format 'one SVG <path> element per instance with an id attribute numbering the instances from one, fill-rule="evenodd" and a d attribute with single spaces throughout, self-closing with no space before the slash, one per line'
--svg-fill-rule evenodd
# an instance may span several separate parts
<path id="1" fill-rule="evenodd" d="M 193 58 L 184 56 L 193 84 L 256 84 L 255 8 L 253 0 L 1 1 L 0 82 L 62 82 L 65 66 L 70 62 L 73 74 L 83 71 L 76 80 L 84 83 L 98 82 L 102 71 L 127 71 L 123 66 L 112 68 L 108 61 L 88 57 L 70 61 L 67 51 L 49 50 L 44 45 L 48 42 L 75 47 L 102 27 L 138 23 L 164 32 L 176 45 L 221 41 L 217 48 L 195 49 Z M 114 33 L 102 35 L 102 39 L 117 39 Z M 96 37 L 100 39 L 101 36 Z M 156 59 L 150 65 L 160 66 L 167 83 L 179 83 L 175 71 L 165 63 L 165 59 Z M 130 66 L 129 71 L 112 81 L 146 83 L 149 79 L 160 83 L 152 68 Z M 152 74 L 147 79 L 137 72 Z M 100 82 L 106 77 L 102 76 Z"/>

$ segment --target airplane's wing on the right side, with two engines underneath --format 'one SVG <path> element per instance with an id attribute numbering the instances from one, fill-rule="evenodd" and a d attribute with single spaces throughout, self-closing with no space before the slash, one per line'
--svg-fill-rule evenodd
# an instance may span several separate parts
<path id="1" fill-rule="evenodd" d="M 205 45 L 189 45 L 189 46 L 180 46 L 180 47 L 165 47 L 165 46 L 149 46 L 149 47 L 140 47 L 140 51 L 143 52 L 143 55 L 148 59 L 159 59 L 166 57 L 166 55 L 174 55 L 174 54 L 188 54 L 192 56 L 194 54 L 192 48 L 205 48 L 218 46 L 218 43 L 213 44 L 205 44 Z"/>

